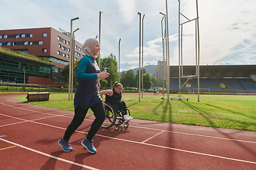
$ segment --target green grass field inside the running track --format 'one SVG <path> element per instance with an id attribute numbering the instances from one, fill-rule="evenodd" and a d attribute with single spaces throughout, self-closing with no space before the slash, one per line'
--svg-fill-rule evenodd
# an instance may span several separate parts
<path id="1" fill-rule="evenodd" d="M 170 99 L 168 102 L 167 98 L 161 99 L 162 96 L 144 94 L 139 103 L 138 94 L 122 94 L 133 118 L 256 132 L 256 96 L 203 94 L 200 102 L 196 94 L 183 95 L 188 101 Z M 178 97 L 177 94 L 170 96 Z M 26 96 L 16 100 L 27 101 Z M 49 101 L 30 103 L 74 111 L 68 94 L 50 94 Z"/>

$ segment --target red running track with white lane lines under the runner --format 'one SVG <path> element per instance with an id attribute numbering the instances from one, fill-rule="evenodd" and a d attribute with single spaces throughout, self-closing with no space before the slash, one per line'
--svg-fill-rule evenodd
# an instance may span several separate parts
<path id="1" fill-rule="evenodd" d="M 96 154 L 80 145 L 94 119 L 58 140 L 73 111 L 15 101 L 26 94 L 0 94 L 0 169 L 256 169 L 256 132 L 131 120 L 117 131 L 100 128 Z"/>

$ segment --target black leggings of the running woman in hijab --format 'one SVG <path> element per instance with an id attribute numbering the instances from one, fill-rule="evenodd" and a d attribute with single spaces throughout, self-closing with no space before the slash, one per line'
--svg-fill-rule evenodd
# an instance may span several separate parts
<path id="1" fill-rule="evenodd" d="M 93 121 L 91 128 L 87 134 L 86 139 L 92 140 L 92 137 L 96 134 L 96 132 L 100 129 L 102 123 L 105 120 L 105 108 L 102 101 L 95 104 L 94 106 L 90 107 L 95 115 L 95 120 Z M 69 140 L 73 132 L 78 129 L 78 127 L 82 124 L 83 120 L 85 119 L 85 115 L 87 114 L 89 108 L 78 108 L 75 109 L 75 116 L 68 125 L 67 130 L 65 131 L 65 135 L 63 136 L 63 140 Z"/>

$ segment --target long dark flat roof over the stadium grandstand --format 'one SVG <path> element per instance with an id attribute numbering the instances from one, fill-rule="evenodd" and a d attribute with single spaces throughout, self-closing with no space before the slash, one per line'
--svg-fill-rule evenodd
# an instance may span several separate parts
<path id="1" fill-rule="evenodd" d="M 251 77 L 256 65 L 202 65 L 200 77 Z M 196 75 L 196 66 L 183 66 L 183 76 Z M 170 77 L 178 77 L 178 66 L 170 66 Z"/>

